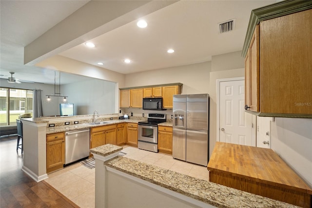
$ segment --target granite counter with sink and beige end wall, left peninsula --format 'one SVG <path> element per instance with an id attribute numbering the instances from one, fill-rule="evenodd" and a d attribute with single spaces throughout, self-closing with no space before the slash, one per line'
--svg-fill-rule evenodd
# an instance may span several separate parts
<path id="1" fill-rule="evenodd" d="M 138 123 L 146 120 L 143 117 L 119 120 L 118 114 L 101 115 L 97 117 L 101 123 L 93 122 L 92 115 L 42 117 L 22 119 L 23 122 L 23 167 L 22 170 L 36 182 L 48 178 L 46 136 L 82 128 L 98 128 L 100 126 L 118 125 L 125 123 Z M 69 125 L 64 125 L 69 123 Z M 74 124 L 77 123 L 78 124 Z M 105 123 L 104 123 L 105 122 Z M 52 127 L 48 127 L 54 125 Z"/>

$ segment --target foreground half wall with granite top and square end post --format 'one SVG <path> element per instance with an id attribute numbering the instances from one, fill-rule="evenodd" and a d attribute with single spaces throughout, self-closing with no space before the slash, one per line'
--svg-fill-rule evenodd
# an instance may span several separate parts
<path id="1" fill-rule="evenodd" d="M 96 159 L 96 207 L 297 208 L 118 156 L 121 150 L 114 145 L 90 150 Z"/>

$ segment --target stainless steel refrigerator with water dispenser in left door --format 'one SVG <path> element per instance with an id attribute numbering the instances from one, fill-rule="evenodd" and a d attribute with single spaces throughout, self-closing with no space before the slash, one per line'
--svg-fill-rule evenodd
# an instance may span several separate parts
<path id="1" fill-rule="evenodd" d="M 173 158 L 208 164 L 209 95 L 174 95 Z"/>

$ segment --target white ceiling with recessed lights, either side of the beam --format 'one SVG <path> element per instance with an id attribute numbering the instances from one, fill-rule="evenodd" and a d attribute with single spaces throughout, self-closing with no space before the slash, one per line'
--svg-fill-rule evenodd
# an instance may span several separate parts
<path id="1" fill-rule="evenodd" d="M 240 51 L 251 10 L 273 2 L 181 0 L 138 18 L 147 21 L 146 28 L 131 21 L 90 40 L 95 48 L 82 43 L 59 55 L 122 74 L 211 61 L 214 55 Z M 0 74 L 5 75 L 1 78 L 14 71 L 20 80 L 54 83 L 53 71 L 23 64 L 23 47 L 86 3 L 88 0 L 1 0 Z M 219 34 L 218 23 L 231 19 L 235 19 L 234 31 Z M 169 48 L 175 53 L 168 54 Z M 132 62 L 124 63 L 125 58 Z M 62 74 L 66 82 L 78 81 L 71 77 Z"/>

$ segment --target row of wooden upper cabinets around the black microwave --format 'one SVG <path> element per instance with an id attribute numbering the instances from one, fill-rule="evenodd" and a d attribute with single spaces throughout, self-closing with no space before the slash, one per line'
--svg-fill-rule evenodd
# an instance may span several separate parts
<path id="1" fill-rule="evenodd" d="M 143 98 L 163 98 L 163 108 L 173 108 L 173 95 L 181 94 L 182 83 L 119 88 L 120 107 L 142 108 Z"/>

